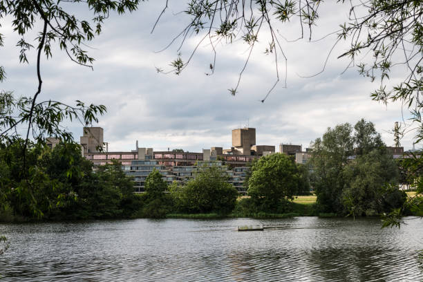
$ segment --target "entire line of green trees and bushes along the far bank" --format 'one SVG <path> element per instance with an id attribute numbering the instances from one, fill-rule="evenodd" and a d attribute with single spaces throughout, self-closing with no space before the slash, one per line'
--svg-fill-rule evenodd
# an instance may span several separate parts
<path id="1" fill-rule="evenodd" d="M 306 214 L 375 216 L 404 208 L 406 194 L 398 185 L 409 174 L 407 161 L 393 160 L 374 124 L 365 120 L 328 128 L 312 143 L 308 164 L 297 164 L 282 153 L 255 160 L 245 180 L 248 197 L 242 198 L 228 182 L 225 169 L 213 163 L 198 167 L 184 184 L 169 187 L 154 170 L 145 181 L 145 193 L 133 194 L 133 180 L 118 162 L 93 171 L 77 144 L 61 143 L 54 149 L 30 144 L 26 154 L 23 148 L 23 140 L 0 147 L 3 220 L 172 214 L 265 217 L 296 212 L 294 196 L 310 191 L 317 203 Z M 414 200 L 415 210 L 422 203 Z"/>

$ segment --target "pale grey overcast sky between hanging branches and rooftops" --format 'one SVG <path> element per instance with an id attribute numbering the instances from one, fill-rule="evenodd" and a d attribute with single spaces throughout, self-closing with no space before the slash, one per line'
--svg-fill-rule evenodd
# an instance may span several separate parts
<path id="1" fill-rule="evenodd" d="M 326 56 L 336 37 L 321 41 L 300 40 L 288 43 L 279 38 L 288 57 L 287 88 L 280 82 L 264 103 L 260 100 L 275 82 L 274 57 L 263 55 L 266 35 L 259 37 L 249 64 L 241 78 L 238 93 L 230 95 L 238 73 L 247 57 L 247 46 L 242 42 L 218 44 L 214 75 L 207 76 L 213 56 L 209 44 L 201 45 L 191 64 L 181 75 L 163 75 L 156 67 L 170 70 L 169 62 L 177 57 L 179 44 L 161 50 L 189 21 L 183 14 L 175 15 L 185 4 L 169 7 L 156 30 L 151 28 L 165 1 L 141 3 L 131 15 L 111 15 L 102 35 L 91 42 L 88 49 L 95 57 L 94 71 L 73 64 L 59 50 L 53 59 L 43 59 L 41 73 L 43 91 L 39 100 L 54 99 L 66 103 L 82 100 L 86 103 L 104 104 L 108 111 L 95 126 L 104 128 L 104 140 L 109 151 L 153 147 L 156 151 L 182 148 L 200 151 L 209 147 L 231 147 L 232 129 L 250 126 L 256 128 L 256 143 L 277 145 L 303 144 L 308 147 L 321 137 L 329 126 L 350 122 L 355 124 L 365 118 L 375 123 L 384 142 L 393 145 L 393 135 L 388 133 L 395 121 L 402 120 L 400 104 L 379 104 L 370 99 L 370 91 L 379 85 L 361 77 L 357 68 L 344 74 L 348 65 L 337 55 L 346 49 L 339 44 L 320 75 Z M 180 1 L 178 1 L 180 3 Z M 348 7 L 325 3 L 314 31 L 314 39 L 337 29 L 348 13 Z M 89 18 L 89 13 L 76 10 L 79 17 Z M 5 35 L 5 47 L 1 50 L 1 63 L 6 68 L 7 79 L 3 90 L 17 95 L 32 95 L 37 87 L 35 51 L 30 64 L 19 64 L 19 53 L 7 21 L 0 28 Z M 299 26 L 290 23 L 281 26 L 279 32 L 287 39 L 299 36 Z M 196 46 L 199 37 L 189 37 L 182 47 L 182 59 L 186 60 Z M 180 41 L 178 41 L 180 43 Z M 281 77 L 285 76 L 283 60 Z M 401 78 L 401 69 L 391 74 L 395 82 Z M 404 118 L 408 118 L 406 111 Z M 79 140 L 82 127 L 68 123 L 68 128 Z M 413 135 L 402 139 L 404 149 L 411 149 Z M 277 149 L 276 149 L 277 150 Z"/>

